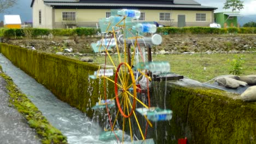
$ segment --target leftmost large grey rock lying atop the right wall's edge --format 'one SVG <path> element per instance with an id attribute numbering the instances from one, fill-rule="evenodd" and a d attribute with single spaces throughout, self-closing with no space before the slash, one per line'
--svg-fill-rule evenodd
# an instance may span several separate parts
<path id="1" fill-rule="evenodd" d="M 220 86 L 224 86 L 227 88 L 237 88 L 239 86 L 247 86 L 246 82 L 238 81 L 228 76 L 218 77 L 217 79 L 215 79 L 215 81 L 218 82 Z"/>

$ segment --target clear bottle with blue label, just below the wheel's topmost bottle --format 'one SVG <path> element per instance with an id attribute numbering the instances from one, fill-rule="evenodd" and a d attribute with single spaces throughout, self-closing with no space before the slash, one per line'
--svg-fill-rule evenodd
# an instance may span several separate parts
<path id="1" fill-rule="evenodd" d="M 133 26 L 132 29 L 142 33 L 155 33 L 156 25 L 150 23 L 137 23 L 137 25 Z"/>

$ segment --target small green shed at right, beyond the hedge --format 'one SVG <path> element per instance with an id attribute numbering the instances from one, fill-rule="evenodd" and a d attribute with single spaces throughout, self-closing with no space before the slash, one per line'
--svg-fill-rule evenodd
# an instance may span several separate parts
<path id="1" fill-rule="evenodd" d="M 239 12 L 214 13 L 215 22 L 223 28 L 238 27 L 237 16 L 240 16 Z"/>

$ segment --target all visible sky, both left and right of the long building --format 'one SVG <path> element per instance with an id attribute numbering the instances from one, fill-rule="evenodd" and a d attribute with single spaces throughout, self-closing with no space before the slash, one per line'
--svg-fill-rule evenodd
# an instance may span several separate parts
<path id="1" fill-rule="evenodd" d="M 6 14 L 9 15 L 20 15 L 22 22 L 30 22 L 32 21 L 32 8 L 30 8 L 32 0 L 17 0 L 17 4 L 8 9 Z M 178 0 L 177 0 L 178 1 Z M 231 11 L 231 10 L 223 10 L 223 5 L 225 0 L 194 0 L 196 2 L 201 3 L 201 5 L 216 7 L 218 8 L 215 12 L 223 12 L 223 11 Z M 244 8 L 240 11 L 241 15 L 256 15 L 256 0 L 240 0 L 243 1 Z M 0 21 L 3 20 L 3 15 L 0 14 Z"/>

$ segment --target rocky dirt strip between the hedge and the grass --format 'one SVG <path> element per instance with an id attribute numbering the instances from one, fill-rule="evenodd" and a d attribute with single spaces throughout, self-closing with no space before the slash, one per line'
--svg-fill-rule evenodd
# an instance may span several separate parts
<path id="1" fill-rule="evenodd" d="M 100 37 L 53 37 L 41 39 L 11 39 L 7 43 L 22 47 L 34 46 L 46 52 L 61 52 L 73 49 L 74 53 L 93 53 L 90 44 Z M 256 50 L 256 35 L 162 35 L 162 43 L 153 46 L 153 52 L 252 52 Z"/>

